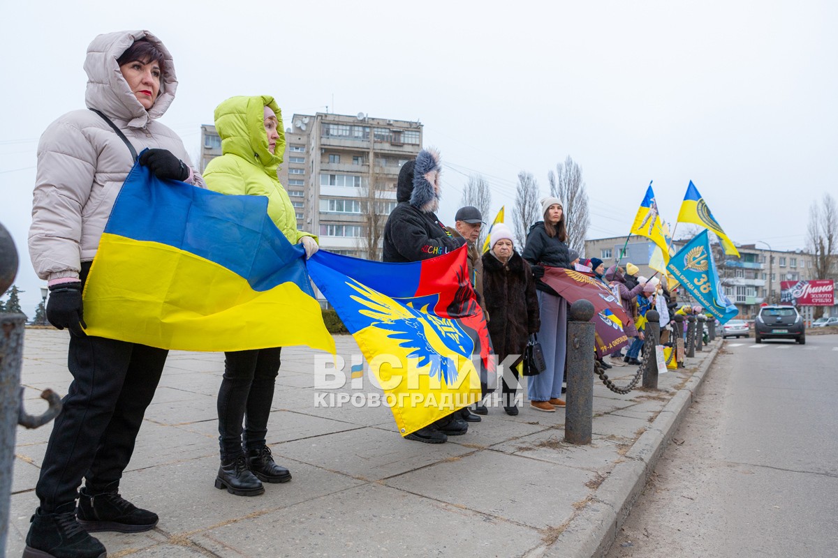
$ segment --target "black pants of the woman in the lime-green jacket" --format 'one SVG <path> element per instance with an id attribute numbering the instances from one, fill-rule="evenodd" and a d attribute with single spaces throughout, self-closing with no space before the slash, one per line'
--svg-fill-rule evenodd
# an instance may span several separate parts
<path id="1" fill-rule="evenodd" d="M 241 455 L 242 446 L 258 449 L 265 445 L 281 351 L 281 347 L 274 347 L 225 352 L 224 379 L 218 391 L 222 463 Z M 243 420 L 246 420 L 244 437 Z"/>

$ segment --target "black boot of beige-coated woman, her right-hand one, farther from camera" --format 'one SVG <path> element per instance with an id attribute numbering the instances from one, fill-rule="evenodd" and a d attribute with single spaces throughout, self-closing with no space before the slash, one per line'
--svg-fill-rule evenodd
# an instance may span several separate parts
<path id="1" fill-rule="evenodd" d="M 85 486 L 79 494 L 79 507 L 75 515 L 86 531 L 118 531 L 140 533 L 154 529 L 158 515 L 147 509 L 137 508 L 117 492 L 118 482 L 104 487 Z"/>

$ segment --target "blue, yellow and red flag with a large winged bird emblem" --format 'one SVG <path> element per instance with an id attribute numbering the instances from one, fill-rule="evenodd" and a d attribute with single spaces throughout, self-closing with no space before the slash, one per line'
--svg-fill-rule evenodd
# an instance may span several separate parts
<path id="1" fill-rule="evenodd" d="M 370 362 L 402 436 L 476 402 L 481 375 L 494 374 L 466 253 L 462 247 L 407 264 L 323 250 L 308 259 L 314 283 Z"/>

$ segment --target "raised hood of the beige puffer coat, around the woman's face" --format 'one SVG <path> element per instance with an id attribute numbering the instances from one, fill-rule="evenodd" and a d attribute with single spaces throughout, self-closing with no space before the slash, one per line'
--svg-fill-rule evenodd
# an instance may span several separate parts
<path id="1" fill-rule="evenodd" d="M 160 81 L 160 93 L 150 110 L 145 108 L 132 93 L 116 59 L 122 56 L 134 41 L 146 38 L 161 52 L 166 63 L 166 72 Z M 106 33 L 94 38 L 87 47 L 85 59 L 87 73 L 87 90 L 85 91 L 85 105 L 89 109 L 101 110 L 105 115 L 119 120 L 127 120 L 132 128 L 144 128 L 149 120 L 158 119 L 168 109 L 174 100 L 174 92 L 178 89 L 178 78 L 174 73 L 172 54 L 155 37 L 147 31 L 117 31 Z"/>

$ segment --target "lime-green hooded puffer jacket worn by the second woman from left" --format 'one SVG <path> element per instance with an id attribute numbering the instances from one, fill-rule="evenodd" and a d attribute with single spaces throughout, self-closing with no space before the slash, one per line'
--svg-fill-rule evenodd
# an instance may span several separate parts
<path id="1" fill-rule="evenodd" d="M 277 115 L 279 139 L 274 153 L 268 151 L 264 107 Z M 209 161 L 204 170 L 207 188 L 222 194 L 266 196 L 267 214 L 289 242 L 296 244 L 312 233 L 297 230 L 297 214 L 277 177 L 285 151 L 282 112 L 269 95 L 230 97 L 215 109 L 215 131 L 224 154 Z"/>

